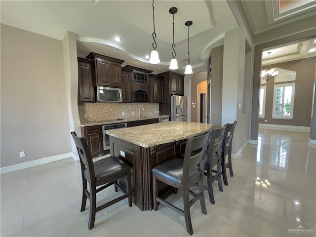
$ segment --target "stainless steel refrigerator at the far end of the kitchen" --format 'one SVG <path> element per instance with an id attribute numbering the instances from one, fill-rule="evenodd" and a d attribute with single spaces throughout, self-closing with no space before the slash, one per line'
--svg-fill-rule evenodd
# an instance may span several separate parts
<path id="1" fill-rule="evenodd" d="M 187 120 L 187 97 L 182 95 L 171 96 L 171 121 Z"/>

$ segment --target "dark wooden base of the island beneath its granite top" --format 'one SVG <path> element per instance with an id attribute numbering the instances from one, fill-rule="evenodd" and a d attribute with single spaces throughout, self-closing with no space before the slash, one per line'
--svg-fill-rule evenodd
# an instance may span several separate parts
<path id="1" fill-rule="evenodd" d="M 142 211 L 153 209 L 152 169 L 163 161 L 184 152 L 185 144 L 186 140 L 183 140 L 144 148 L 110 136 L 111 156 L 121 158 L 132 167 L 132 200 L 139 209 Z M 123 187 L 126 186 L 125 180 L 119 183 Z M 159 196 L 163 196 L 169 190 L 170 186 L 158 182 Z"/>

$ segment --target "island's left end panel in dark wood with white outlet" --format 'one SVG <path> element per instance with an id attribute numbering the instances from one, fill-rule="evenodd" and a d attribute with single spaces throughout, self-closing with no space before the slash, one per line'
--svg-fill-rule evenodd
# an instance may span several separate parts
<path id="1" fill-rule="evenodd" d="M 143 173 L 142 173 L 142 148 L 130 142 L 110 136 L 110 154 L 126 163 L 131 169 L 132 201 L 140 209 L 144 210 Z M 118 181 L 126 189 L 125 179 Z"/>

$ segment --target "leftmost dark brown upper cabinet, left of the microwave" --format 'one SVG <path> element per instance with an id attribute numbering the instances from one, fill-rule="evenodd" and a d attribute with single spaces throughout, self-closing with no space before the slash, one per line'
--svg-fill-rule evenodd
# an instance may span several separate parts
<path id="1" fill-rule="evenodd" d="M 78 58 L 78 103 L 94 103 L 93 61 Z"/>

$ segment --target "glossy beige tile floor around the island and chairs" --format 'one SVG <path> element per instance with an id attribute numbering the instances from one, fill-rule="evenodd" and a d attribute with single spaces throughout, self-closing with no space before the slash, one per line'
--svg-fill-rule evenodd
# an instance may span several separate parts
<path id="1" fill-rule="evenodd" d="M 198 201 L 191 207 L 194 236 L 316 236 L 316 148 L 308 135 L 260 130 L 259 144 L 248 144 L 233 160 L 235 176 L 224 192 L 213 184 L 216 203 L 206 199 L 207 215 Z M 270 186 L 256 185 L 257 177 Z M 161 205 L 141 212 L 126 199 L 98 212 L 88 231 L 89 202 L 79 212 L 80 164 L 72 158 L 3 174 L 0 191 L 1 237 L 189 236 L 181 215 Z M 98 198 L 116 195 L 110 188 Z M 169 199 L 181 205 L 181 192 Z"/>

